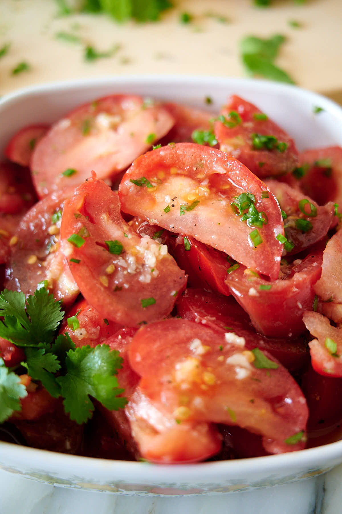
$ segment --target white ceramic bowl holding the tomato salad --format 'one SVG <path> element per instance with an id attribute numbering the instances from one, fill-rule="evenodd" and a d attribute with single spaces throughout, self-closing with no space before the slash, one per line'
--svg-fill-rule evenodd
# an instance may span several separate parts
<path id="1" fill-rule="evenodd" d="M 229 94 L 236 93 L 269 114 L 295 139 L 299 150 L 342 145 L 342 108 L 295 86 L 228 78 L 133 76 L 33 86 L 1 98 L 0 152 L 22 126 L 53 122 L 78 104 L 111 93 L 135 93 L 203 108 L 205 97 L 210 96 L 214 111 Z M 314 115 L 314 106 L 324 112 Z M 245 491 L 306 479 L 341 462 L 342 441 L 267 457 L 175 466 L 78 457 L 0 443 L 0 468 L 6 471 L 55 485 L 137 494 Z"/>

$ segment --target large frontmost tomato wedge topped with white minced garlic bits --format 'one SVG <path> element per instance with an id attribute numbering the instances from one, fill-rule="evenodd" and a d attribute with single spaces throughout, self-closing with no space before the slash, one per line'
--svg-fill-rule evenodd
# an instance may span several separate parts
<path id="1" fill-rule="evenodd" d="M 308 409 L 295 380 L 270 354 L 245 350 L 241 338 L 169 319 L 140 328 L 129 360 L 143 394 L 180 424 L 238 425 L 262 434 L 271 453 L 304 447 Z"/>

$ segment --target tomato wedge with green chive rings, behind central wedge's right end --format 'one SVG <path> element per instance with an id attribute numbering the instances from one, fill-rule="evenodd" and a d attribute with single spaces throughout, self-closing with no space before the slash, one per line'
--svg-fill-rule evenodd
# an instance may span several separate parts
<path id="1" fill-rule="evenodd" d="M 287 240 L 294 245 L 286 252 L 293 255 L 314 245 L 337 223 L 332 202 L 319 207 L 314 200 L 291 188 L 284 182 L 266 180 L 265 182 L 277 198 L 280 209 L 286 214 L 284 231 Z"/>

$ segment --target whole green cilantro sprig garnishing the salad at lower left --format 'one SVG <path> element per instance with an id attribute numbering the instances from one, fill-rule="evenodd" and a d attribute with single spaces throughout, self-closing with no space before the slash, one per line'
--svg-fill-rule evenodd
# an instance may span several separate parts
<path id="1" fill-rule="evenodd" d="M 21 366 L 51 396 L 64 398 L 70 419 L 82 424 L 91 418 L 94 405 L 89 395 L 111 410 L 126 405 L 126 398 L 117 397 L 124 391 L 115 376 L 123 362 L 119 353 L 106 344 L 76 348 L 68 334 L 54 340 L 64 312 L 45 287 L 27 301 L 23 292 L 5 289 L 0 293 L 0 316 L 0 337 L 23 348 Z M 21 410 L 20 399 L 26 395 L 19 377 L 0 359 L 0 423 Z"/>

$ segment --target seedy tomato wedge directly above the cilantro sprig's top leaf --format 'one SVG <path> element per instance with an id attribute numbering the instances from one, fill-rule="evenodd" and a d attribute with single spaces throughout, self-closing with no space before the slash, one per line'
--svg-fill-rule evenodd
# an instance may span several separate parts
<path id="1" fill-rule="evenodd" d="M 68 307 L 79 290 L 59 243 L 61 212 L 73 189 L 52 193 L 38 201 L 23 217 L 11 240 L 5 287 L 33 295 L 39 283 Z M 54 219 L 56 218 L 56 219 Z"/>

